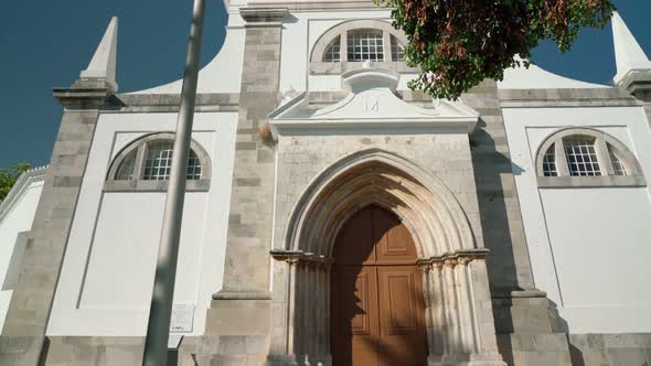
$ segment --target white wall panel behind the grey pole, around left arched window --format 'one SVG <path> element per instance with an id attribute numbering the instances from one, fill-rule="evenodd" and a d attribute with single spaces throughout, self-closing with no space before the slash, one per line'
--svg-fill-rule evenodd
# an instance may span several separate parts
<path id="1" fill-rule="evenodd" d="M 172 131 L 177 114 L 103 114 L 47 327 L 49 335 L 145 335 L 163 192 L 103 192 L 113 158 L 142 134 Z M 236 112 L 198 112 L 193 139 L 210 154 L 209 192 L 185 196 L 174 303 L 194 304 L 193 332 L 221 288 Z"/>

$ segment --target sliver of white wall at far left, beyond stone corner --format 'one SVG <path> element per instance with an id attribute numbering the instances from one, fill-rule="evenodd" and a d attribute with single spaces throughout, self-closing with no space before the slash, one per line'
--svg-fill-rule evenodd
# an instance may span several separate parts
<path id="1" fill-rule="evenodd" d="M 0 330 L 4 325 L 4 317 L 13 293 L 13 290 L 3 289 L 3 287 L 8 270 L 17 270 L 14 266 L 10 266 L 17 238 L 19 233 L 31 230 L 41 191 L 43 190 L 42 179 L 28 181 L 25 184 L 24 187 L 13 187 L 20 194 L 11 205 L 9 205 L 9 202 L 3 203 L 7 205 L 7 212 L 0 217 Z"/>

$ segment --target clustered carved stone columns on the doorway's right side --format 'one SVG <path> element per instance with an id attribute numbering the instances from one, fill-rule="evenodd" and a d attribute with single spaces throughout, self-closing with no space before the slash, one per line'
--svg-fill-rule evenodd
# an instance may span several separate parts
<path id="1" fill-rule="evenodd" d="M 498 353 L 485 249 L 419 260 L 424 271 L 428 364 L 504 365 Z"/>

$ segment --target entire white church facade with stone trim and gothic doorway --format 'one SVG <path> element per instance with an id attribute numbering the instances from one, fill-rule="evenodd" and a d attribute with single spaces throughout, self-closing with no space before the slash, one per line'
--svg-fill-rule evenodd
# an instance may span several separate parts
<path id="1" fill-rule="evenodd" d="M 170 365 L 651 364 L 651 61 L 457 101 L 366 1 L 232 0 L 200 72 Z M 116 83 L 117 19 L 47 168 L 0 204 L 0 365 L 140 365 L 181 82 Z"/>

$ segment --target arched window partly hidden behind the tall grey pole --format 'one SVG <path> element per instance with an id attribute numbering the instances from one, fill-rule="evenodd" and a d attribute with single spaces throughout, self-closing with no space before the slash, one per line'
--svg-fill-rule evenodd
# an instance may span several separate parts
<path id="1" fill-rule="evenodd" d="M 138 186 L 142 190 L 163 187 L 164 184 L 157 184 L 156 181 L 169 180 L 173 147 L 174 134 L 167 132 L 148 134 L 131 142 L 118 153 L 111 163 L 105 187 L 120 191 Z M 210 180 L 209 155 L 194 140 L 191 142 L 190 149 L 188 187 L 192 190 L 198 186 L 207 186 L 206 183 Z M 130 183 L 134 181 L 136 184 Z"/>

